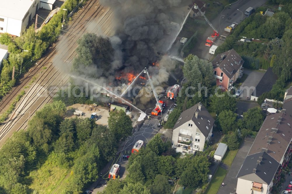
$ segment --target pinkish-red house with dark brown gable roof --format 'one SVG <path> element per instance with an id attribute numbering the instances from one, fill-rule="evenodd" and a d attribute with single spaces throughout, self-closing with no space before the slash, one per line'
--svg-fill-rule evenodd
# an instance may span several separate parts
<path id="1" fill-rule="evenodd" d="M 244 60 L 234 50 L 228 50 L 221 54 L 217 54 L 212 61 L 214 69 L 214 77 L 216 78 L 216 85 L 223 91 L 226 91 L 237 80 L 240 73 L 242 73 L 242 64 Z"/>

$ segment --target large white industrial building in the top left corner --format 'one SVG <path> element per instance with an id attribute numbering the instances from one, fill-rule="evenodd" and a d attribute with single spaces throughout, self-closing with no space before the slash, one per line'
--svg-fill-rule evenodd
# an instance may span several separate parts
<path id="1" fill-rule="evenodd" d="M 39 0 L 9 0 L 1 3 L 0 33 L 20 36 L 39 7 Z"/>

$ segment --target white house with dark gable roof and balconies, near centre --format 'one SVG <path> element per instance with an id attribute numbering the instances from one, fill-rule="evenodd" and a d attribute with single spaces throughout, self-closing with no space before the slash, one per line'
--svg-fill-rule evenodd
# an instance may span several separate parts
<path id="1" fill-rule="evenodd" d="M 172 144 L 177 152 L 203 151 L 212 135 L 214 119 L 199 102 L 180 114 L 173 127 Z"/>

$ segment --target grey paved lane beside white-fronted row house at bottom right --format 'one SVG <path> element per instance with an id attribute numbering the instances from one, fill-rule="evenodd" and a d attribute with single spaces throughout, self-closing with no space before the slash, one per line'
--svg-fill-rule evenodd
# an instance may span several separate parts
<path id="1" fill-rule="evenodd" d="M 246 158 L 246 155 L 249 151 L 249 149 L 251 148 L 251 145 L 253 144 L 253 140 L 249 138 L 248 141 L 244 141 L 231 166 L 230 169 L 227 173 L 227 175 L 225 176 L 223 183 L 224 183 L 224 187 L 220 186 L 219 191 L 217 192 L 217 194 L 230 194 L 230 193 L 235 193 L 236 191 L 236 185 L 237 185 L 237 178 L 236 175 L 241 167 L 241 165 L 244 162 L 244 159 Z"/>

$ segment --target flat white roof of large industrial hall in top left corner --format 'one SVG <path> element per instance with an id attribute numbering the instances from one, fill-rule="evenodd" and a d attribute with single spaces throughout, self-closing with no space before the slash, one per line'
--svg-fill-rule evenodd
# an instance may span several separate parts
<path id="1" fill-rule="evenodd" d="M 9 0 L 1 2 L 0 17 L 9 17 L 16 20 L 22 20 L 29 8 L 35 3 L 36 0 Z M 34 8 L 35 9 L 35 8 Z"/>

